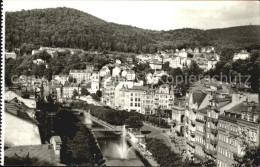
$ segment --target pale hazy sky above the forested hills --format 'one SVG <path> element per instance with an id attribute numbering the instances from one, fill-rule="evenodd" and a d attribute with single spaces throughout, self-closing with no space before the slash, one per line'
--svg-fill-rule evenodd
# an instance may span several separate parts
<path id="1" fill-rule="evenodd" d="M 5 11 L 69 7 L 108 22 L 151 30 L 260 25 L 259 1 L 6 0 Z"/>

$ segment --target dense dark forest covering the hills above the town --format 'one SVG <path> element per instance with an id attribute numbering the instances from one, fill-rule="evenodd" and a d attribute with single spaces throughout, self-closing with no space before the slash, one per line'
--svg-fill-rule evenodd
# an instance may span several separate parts
<path id="1" fill-rule="evenodd" d="M 70 8 L 6 12 L 5 49 L 39 46 L 144 52 L 201 47 L 260 48 L 260 26 L 152 31 L 106 22 Z M 29 52 L 28 52 L 29 53 Z"/>

